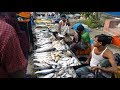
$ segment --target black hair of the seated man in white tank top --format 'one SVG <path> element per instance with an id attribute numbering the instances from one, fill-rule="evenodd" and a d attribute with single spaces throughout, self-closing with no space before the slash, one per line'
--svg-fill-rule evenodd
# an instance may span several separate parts
<path id="1" fill-rule="evenodd" d="M 105 34 L 96 35 L 95 38 L 98 38 L 98 42 L 102 42 L 103 46 L 106 44 L 111 44 L 113 39 L 111 36 Z"/>

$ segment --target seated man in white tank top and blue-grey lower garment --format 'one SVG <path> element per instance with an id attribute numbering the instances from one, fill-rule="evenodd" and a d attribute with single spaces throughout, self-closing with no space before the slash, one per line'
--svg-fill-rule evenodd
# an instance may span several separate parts
<path id="1" fill-rule="evenodd" d="M 100 73 L 100 78 L 111 78 L 113 73 L 117 73 L 118 69 L 115 58 L 112 51 L 107 48 L 107 44 L 110 44 L 111 41 L 112 38 L 104 34 L 95 36 L 91 55 L 85 62 L 85 64 L 90 65 L 83 66 L 76 70 L 76 73 L 80 78 L 88 78 L 88 75 L 90 74 L 95 77 L 97 73 Z M 105 63 L 102 63 L 101 65 L 101 62 L 105 59 L 107 60 L 106 62 L 108 62 L 108 65 L 104 65 Z"/>

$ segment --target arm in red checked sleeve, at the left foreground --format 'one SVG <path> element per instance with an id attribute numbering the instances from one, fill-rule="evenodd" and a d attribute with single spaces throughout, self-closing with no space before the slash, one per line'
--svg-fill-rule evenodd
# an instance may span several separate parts
<path id="1" fill-rule="evenodd" d="M 7 40 L 4 47 L 3 64 L 10 78 L 24 78 L 27 69 L 25 59 L 20 47 L 19 39 L 11 26 L 6 26 Z"/>

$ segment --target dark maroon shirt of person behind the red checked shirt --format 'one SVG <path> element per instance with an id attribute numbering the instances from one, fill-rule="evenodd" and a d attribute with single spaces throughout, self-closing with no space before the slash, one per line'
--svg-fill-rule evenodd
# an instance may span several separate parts
<path id="1" fill-rule="evenodd" d="M 28 53 L 28 50 L 29 50 L 29 46 L 30 46 L 29 40 L 27 38 L 25 31 L 20 30 L 20 27 L 19 27 L 19 24 L 17 21 L 17 17 L 16 17 L 16 13 L 8 12 L 8 13 L 6 13 L 5 16 L 0 17 L 0 20 L 3 20 L 6 23 L 10 24 L 12 27 L 14 27 L 15 32 L 18 36 L 23 54 L 26 56 Z"/>

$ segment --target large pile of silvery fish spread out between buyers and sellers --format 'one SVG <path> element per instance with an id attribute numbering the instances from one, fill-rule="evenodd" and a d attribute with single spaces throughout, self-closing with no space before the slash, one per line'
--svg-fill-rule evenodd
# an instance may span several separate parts
<path id="1" fill-rule="evenodd" d="M 49 28 L 35 28 L 33 31 L 37 47 L 32 55 L 34 75 L 37 78 L 76 78 L 72 68 L 80 65 L 63 40 L 56 40 Z"/>

